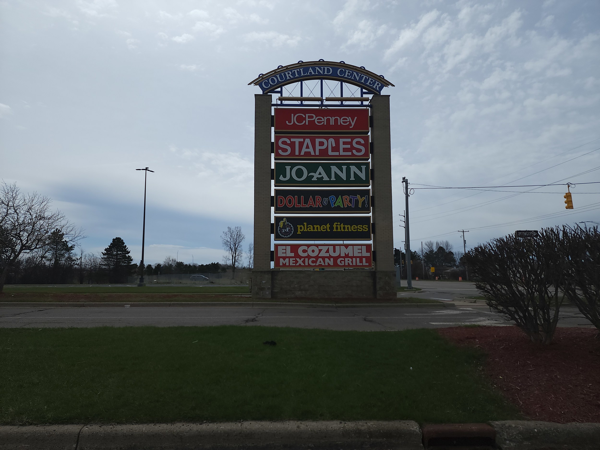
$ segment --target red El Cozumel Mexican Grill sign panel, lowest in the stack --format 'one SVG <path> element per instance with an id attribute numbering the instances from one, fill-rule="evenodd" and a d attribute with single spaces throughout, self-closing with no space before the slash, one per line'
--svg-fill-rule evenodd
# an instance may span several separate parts
<path id="1" fill-rule="evenodd" d="M 275 268 L 373 267 L 371 244 L 275 244 Z"/>

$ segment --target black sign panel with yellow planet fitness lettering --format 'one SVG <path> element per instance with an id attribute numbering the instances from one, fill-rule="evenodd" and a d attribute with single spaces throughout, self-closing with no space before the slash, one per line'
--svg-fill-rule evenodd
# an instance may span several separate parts
<path id="1" fill-rule="evenodd" d="M 275 241 L 370 241 L 370 217 L 277 217 Z"/>

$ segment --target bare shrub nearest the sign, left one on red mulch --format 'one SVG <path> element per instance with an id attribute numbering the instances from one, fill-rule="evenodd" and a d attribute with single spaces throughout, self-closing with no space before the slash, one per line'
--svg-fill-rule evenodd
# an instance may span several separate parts
<path id="1" fill-rule="evenodd" d="M 465 256 L 487 305 L 513 320 L 535 343 L 552 341 L 564 298 L 560 234 L 550 228 L 538 238 L 509 235 L 479 245 Z"/>

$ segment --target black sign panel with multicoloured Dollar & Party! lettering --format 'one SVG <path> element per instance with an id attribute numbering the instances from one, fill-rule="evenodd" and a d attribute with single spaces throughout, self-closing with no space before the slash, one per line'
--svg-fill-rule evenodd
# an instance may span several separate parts
<path id="1" fill-rule="evenodd" d="M 368 189 L 275 189 L 275 214 L 368 214 L 370 194 Z"/>

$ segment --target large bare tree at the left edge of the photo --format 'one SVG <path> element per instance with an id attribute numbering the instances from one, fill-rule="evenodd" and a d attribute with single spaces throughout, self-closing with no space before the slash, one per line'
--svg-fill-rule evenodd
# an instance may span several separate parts
<path id="1" fill-rule="evenodd" d="M 24 254 L 40 250 L 50 233 L 60 230 L 67 242 L 83 238 L 81 229 L 71 224 L 62 212 L 50 209 L 49 197 L 23 194 L 16 183 L 0 188 L 0 292 L 8 271 Z"/>

